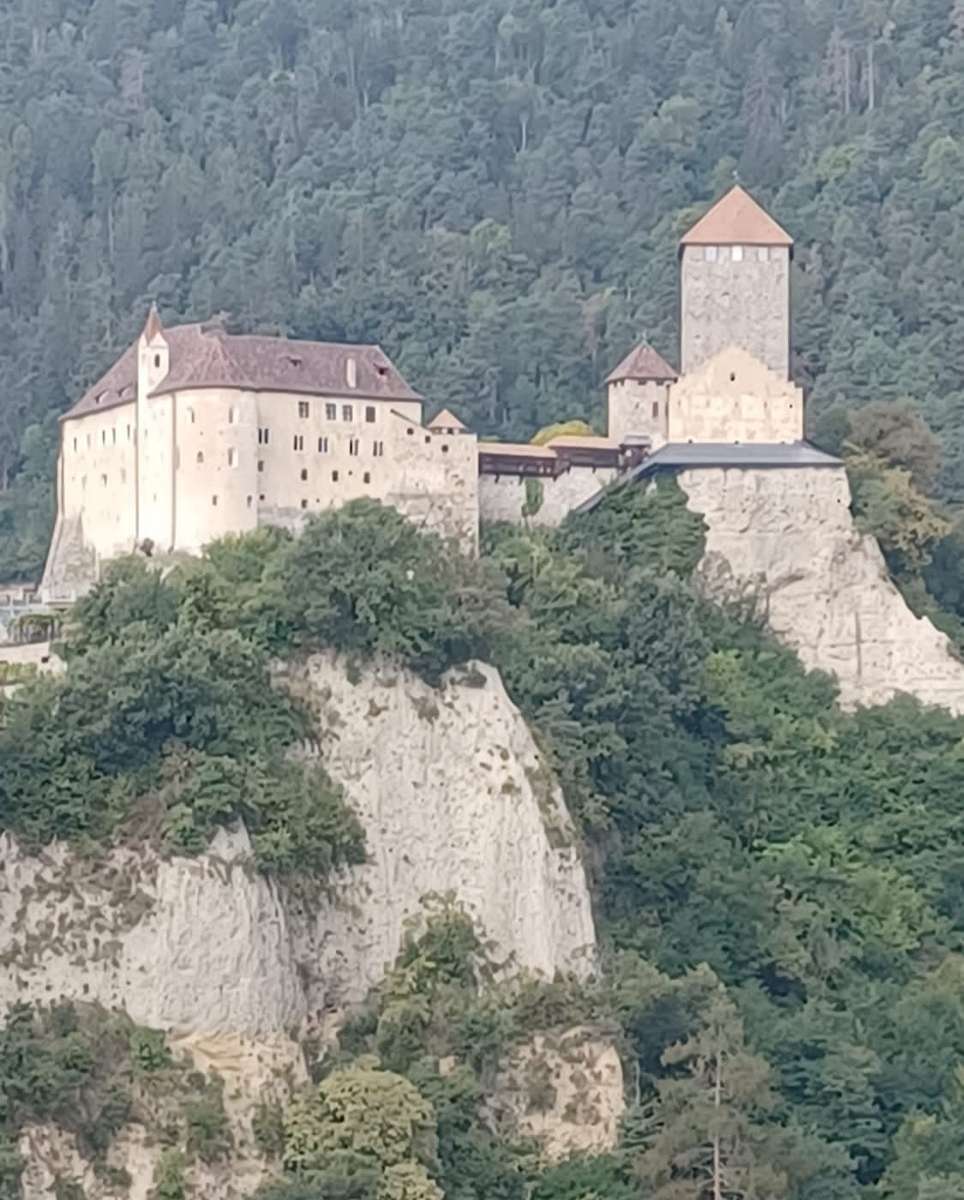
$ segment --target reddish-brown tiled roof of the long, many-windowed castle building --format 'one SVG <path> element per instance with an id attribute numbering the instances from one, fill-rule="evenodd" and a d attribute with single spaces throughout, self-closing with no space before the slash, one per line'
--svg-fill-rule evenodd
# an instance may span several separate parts
<path id="1" fill-rule="evenodd" d="M 204 325 L 174 325 L 163 330 L 163 337 L 170 350 L 170 370 L 154 396 L 187 388 L 241 388 L 359 400 L 421 400 L 378 346 L 235 336 Z M 354 388 L 348 383 L 352 359 Z M 137 343 L 124 352 L 66 416 L 84 416 L 130 403 L 136 392 Z"/>

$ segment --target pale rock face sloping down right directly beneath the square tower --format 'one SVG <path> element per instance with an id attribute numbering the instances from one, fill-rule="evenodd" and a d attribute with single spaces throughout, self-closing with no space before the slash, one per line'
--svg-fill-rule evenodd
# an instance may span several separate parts
<path id="1" fill-rule="evenodd" d="M 707 523 L 706 592 L 752 598 L 808 668 L 837 677 L 845 706 L 906 692 L 964 712 L 964 664 L 908 608 L 876 541 L 856 529 L 842 467 L 687 470 L 679 485 Z"/>

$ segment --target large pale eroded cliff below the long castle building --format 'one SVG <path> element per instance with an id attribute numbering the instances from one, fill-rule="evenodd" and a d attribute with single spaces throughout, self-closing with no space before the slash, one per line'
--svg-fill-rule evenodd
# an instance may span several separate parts
<path id="1" fill-rule="evenodd" d="M 426 898 L 457 898 L 504 970 L 585 976 L 595 959 L 569 816 L 495 670 L 462 668 L 432 689 L 319 655 L 287 676 L 317 700 L 311 752 L 366 830 L 369 862 L 328 893 L 257 874 L 243 828 L 197 859 L 119 848 L 89 860 L 0 839 L 0 1006 L 67 997 L 120 1009 L 216 1070 L 239 1156 L 230 1180 L 194 1181 L 205 1195 L 251 1190 L 255 1099 L 304 1079 L 300 1039 L 324 1037 L 382 978 Z M 146 1195 L 156 1154 L 143 1130 L 124 1139 L 136 1180 L 125 1195 Z M 70 1145 L 40 1128 L 23 1148 L 26 1195 L 52 1194 L 44 1156 L 70 1159 Z"/>

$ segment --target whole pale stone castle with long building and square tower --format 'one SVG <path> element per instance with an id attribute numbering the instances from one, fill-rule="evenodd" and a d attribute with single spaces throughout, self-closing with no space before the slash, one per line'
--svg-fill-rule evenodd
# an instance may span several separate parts
<path id="1" fill-rule="evenodd" d="M 682 239 L 681 354 L 637 346 L 606 380 L 606 437 L 480 442 L 377 346 L 166 329 L 61 419 L 56 524 L 42 583 L 68 602 L 104 562 L 198 553 L 263 524 L 297 530 L 367 496 L 478 541 L 479 520 L 556 524 L 621 478 L 700 467 L 838 467 L 803 437 L 789 379 L 792 241 L 735 187 Z"/>

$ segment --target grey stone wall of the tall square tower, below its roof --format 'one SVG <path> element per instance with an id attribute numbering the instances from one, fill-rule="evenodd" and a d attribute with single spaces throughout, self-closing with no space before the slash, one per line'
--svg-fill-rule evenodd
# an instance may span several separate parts
<path id="1" fill-rule="evenodd" d="M 681 373 L 696 370 L 728 346 L 741 346 L 786 379 L 789 248 L 684 246 L 682 257 Z"/>

